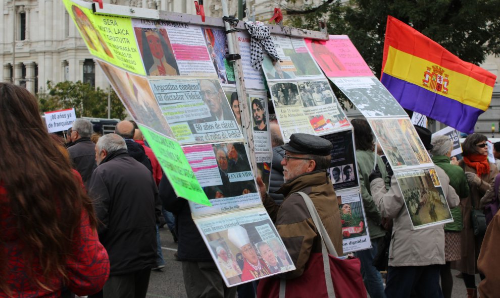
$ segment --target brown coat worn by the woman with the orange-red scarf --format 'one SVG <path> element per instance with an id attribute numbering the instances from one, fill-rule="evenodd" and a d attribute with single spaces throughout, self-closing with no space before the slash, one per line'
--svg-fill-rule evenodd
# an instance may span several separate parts
<path id="1" fill-rule="evenodd" d="M 460 165 L 466 172 L 476 172 L 475 168 L 466 165 L 465 163 L 463 163 L 463 161 L 461 161 Z M 496 168 L 496 165 L 494 163 L 490 163 L 489 168 L 489 173 L 481 176 L 481 185 L 479 187 L 469 185 L 469 196 L 465 199 L 460 200 L 460 206 L 462 207 L 462 218 L 464 220 L 464 229 L 461 232 L 460 242 L 462 259 L 455 261 L 452 266 L 454 269 L 468 274 L 478 273 L 476 260 L 479 256 L 481 243 L 483 242 L 483 236 L 474 236 L 474 232 L 472 230 L 472 202 L 474 202 L 474 208 L 479 209 L 479 201 L 488 191 L 488 189 L 494 184 L 495 176 L 496 174 L 498 174 L 498 169 Z"/>

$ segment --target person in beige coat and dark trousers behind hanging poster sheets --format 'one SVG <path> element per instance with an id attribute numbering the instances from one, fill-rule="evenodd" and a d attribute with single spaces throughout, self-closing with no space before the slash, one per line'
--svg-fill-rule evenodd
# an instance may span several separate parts
<path id="1" fill-rule="evenodd" d="M 430 132 L 428 134 L 428 140 L 421 136 L 427 150 L 432 148 Z M 457 206 L 460 199 L 449 186 L 448 176 L 440 167 L 436 166 L 435 169 L 448 206 Z M 370 174 L 369 181 L 373 200 L 382 217 L 392 218 L 394 222 L 385 287 L 387 298 L 410 297 L 412 291 L 419 297 L 442 297 L 439 265 L 445 263 L 443 224 L 414 230 L 396 178 L 392 176 L 388 191 L 377 172 Z"/>

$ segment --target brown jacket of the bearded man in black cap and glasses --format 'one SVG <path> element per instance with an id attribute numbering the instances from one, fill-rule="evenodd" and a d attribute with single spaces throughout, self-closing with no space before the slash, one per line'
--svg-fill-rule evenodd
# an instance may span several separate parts
<path id="1" fill-rule="evenodd" d="M 316 226 L 304 199 L 296 192 L 304 192 L 311 198 L 337 254 L 342 255 L 340 212 L 330 176 L 324 170 L 298 176 L 277 191 L 285 196 L 281 205 L 274 203 L 269 195 L 264 198 L 264 206 L 296 267 L 284 274 L 287 279 L 301 276 L 311 253 L 321 252 Z"/>

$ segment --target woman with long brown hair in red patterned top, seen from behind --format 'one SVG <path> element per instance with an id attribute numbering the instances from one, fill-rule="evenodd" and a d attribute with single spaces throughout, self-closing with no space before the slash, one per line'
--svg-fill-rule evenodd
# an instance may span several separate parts
<path id="1" fill-rule="evenodd" d="M 0 131 L 0 297 L 99 291 L 109 259 L 92 203 L 26 89 L 0 83 Z"/>

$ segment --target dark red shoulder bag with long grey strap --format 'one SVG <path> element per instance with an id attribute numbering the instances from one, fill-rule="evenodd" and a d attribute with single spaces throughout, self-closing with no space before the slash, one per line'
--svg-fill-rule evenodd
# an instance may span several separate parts
<path id="1" fill-rule="evenodd" d="M 295 279 L 283 278 L 261 279 L 257 287 L 258 297 L 270 298 L 351 298 L 367 297 L 361 263 L 359 259 L 338 258 L 325 226 L 311 198 L 302 192 L 301 195 L 316 225 L 321 239 L 321 253 L 311 253 L 304 273 Z"/>

